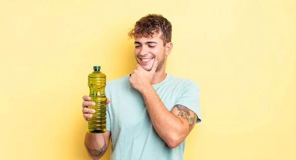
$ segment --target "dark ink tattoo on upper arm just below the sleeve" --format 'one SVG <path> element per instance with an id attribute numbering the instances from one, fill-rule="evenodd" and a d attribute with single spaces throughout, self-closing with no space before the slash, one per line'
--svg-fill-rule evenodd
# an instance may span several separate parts
<path id="1" fill-rule="evenodd" d="M 197 115 L 191 110 L 189 110 L 187 107 L 185 107 L 184 105 L 176 104 L 175 107 L 177 107 L 179 111 L 178 116 L 181 116 L 188 121 L 189 131 L 191 131 L 195 125 L 195 122 L 198 119 Z M 190 112 L 193 113 L 193 115 L 191 115 Z"/>

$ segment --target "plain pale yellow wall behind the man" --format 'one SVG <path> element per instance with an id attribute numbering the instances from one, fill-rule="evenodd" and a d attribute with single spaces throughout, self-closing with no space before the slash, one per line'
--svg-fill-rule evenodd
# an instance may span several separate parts
<path id="1" fill-rule="evenodd" d="M 132 72 L 127 32 L 173 25 L 167 72 L 200 86 L 185 160 L 296 160 L 295 0 L 1 0 L 0 159 L 90 160 L 82 96 Z M 109 158 L 108 153 L 103 160 Z"/>

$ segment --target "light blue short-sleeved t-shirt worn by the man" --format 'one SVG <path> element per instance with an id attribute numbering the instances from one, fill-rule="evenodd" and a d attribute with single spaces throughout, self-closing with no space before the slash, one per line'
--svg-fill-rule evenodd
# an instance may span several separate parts
<path id="1" fill-rule="evenodd" d="M 197 83 L 167 74 L 162 82 L 152 86 L 169 111 L 181 104 L 196 113 L 196 123 L 201 121 Z M 144 98 L 129 83 L 129 75 L 108 81 L 105 95 L 111 100 L 107 106 L 110 160 L 183 160 L 185 140 L 176 148 L 168 147 L 154 130 Z"/>

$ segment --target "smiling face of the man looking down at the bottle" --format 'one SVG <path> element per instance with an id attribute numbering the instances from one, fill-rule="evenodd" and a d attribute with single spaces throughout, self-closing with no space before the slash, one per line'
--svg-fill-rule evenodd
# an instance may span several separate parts
<path id="1" fill-rule="evenodd" d="M 161 33 L 160 33 L 161 34 Z M 135 38 L 135 58 L 136 61 L 147 71 L 150 71 L 152 64 L 158 60 L 156 72 L 161 70 L 165 60 L 165 46 L 160 34 Z"/>

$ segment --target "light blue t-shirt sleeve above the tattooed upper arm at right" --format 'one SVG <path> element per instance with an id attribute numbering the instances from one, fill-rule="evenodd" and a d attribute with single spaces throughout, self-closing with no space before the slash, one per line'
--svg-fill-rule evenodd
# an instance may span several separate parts
<path id="1" fill-rule="evenodd" d="M 200 113 L 200 91 L 199 86 L 195 81 L 190 80 L 184 87 L 183 93 L 176 100 L 176 104 L 181 104 L 193 111 L 198 119 L 196 123 L 201 122 Z"/>

